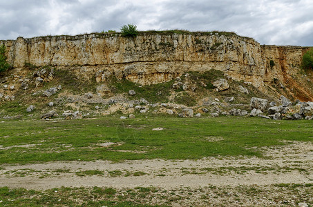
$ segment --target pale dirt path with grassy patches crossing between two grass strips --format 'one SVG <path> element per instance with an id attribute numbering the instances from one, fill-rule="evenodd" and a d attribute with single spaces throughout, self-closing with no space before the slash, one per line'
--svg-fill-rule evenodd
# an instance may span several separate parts
<path id="1" fill-rule="evenodd" d="M 269 159 L 206 158 L 198 161 L 70 161 L 1 166 L 0 186 L 48 189 L 61 186 L 165 189 L 205 186 L 312 184 L 313 144 L 264 148 Z M 0 169 L 1 169 L 0 168 Z"/>

